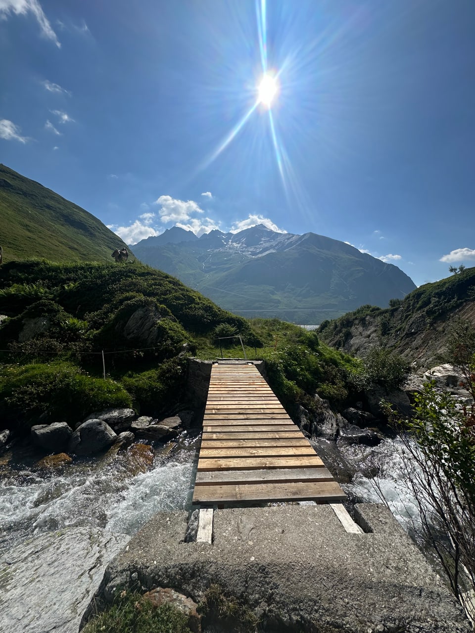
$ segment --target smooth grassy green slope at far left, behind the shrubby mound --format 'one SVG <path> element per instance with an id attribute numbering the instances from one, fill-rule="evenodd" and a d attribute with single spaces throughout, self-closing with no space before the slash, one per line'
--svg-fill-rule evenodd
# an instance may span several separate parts
<path id="1" fill-rule="evenodd" d="M 111 261 L 124 242 L 91 213 L 0 165 L 3 261 Z"/>

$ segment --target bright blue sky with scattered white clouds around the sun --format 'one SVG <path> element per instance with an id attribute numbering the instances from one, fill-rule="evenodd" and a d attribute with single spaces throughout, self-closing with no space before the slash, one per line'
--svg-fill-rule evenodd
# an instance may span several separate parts
<path id="1" fill-rule="evenodd" d="M 474 0 L 0 0 L 0 56 L 0 161 L 128 243 L 263 221 L 418 285 L 475 265 Z"/>

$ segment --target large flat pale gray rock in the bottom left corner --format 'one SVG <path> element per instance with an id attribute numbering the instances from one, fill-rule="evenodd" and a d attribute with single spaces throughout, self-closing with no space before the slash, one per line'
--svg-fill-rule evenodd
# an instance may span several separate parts
<path id="1" fill-rule="evenodd" d="M 2 633 L 77 633 L 106 565 L 128 538 L 68 528 L 9 550 L 0 559 Z"/>

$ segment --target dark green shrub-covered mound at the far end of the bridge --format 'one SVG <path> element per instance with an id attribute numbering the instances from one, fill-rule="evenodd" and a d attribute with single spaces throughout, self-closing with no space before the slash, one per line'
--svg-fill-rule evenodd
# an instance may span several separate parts
<path id="1" fill-rule="evenodd" d="M 345 398 L 353 363 L 314 332 L 249 322 L 137 261 L 11 261 L 0 267 L 0 315 L 0 430 L 25 429 L 39 416 L 73 423 L 106 406 L 155 417 L 186 408 L 186 359 L 219 356 L 217 327 L 239 332 L 248 358 L 267 361 L 289 411 L 314 406 L 317 387 Z M 243 357 L 239 339 L 222 348 Z"/>

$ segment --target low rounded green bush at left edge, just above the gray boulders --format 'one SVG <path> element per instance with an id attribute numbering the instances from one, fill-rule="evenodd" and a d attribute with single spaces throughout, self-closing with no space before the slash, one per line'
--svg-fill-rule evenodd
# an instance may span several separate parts
<path id="1" fill-rule="evenodd" d="M 94 378 L 65 361 L 4 365 L 0 369 L 0 415 L 20 427 L 45 422 L 74 423 L 92 411 L 130 407 L 124 387 Z"/>

